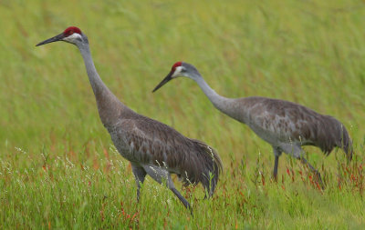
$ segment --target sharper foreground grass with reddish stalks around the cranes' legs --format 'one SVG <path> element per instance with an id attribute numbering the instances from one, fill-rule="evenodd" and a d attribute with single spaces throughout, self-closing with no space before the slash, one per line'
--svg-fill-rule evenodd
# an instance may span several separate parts
<path id="1" fill-rule="evenodd" d="M 203 199 L 201 186 L 183 189 L 193 204 L 191 216 L 150 178 L 137 203 L 130 165 L 112 147 L 86 162 L 78 156 L 82 153 L 45 153 L 17 149 L 2 157 L 2 228 L 353 229 L 365 224 L 363 158 L 351 165 L 339 159 L 336 170 L 322 169 L 327 184 L 322 190 L 308 168 L 291 166 L 290 159 L 275 183 L 259 157 L 249 169 L 250 163 L 232 156 L 212 200 Z M 20 159 L 26 164 L 19 166 Z"/>

